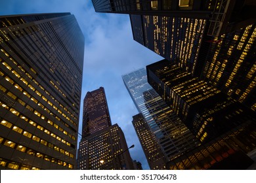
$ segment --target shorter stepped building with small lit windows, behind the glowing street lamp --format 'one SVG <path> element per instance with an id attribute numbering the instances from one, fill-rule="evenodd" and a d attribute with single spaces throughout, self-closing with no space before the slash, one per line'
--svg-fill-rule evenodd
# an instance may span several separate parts
<path id="1" fill-rule="evenodd" d="M 77 169 L 134 169 L 125 136 L 117 124 L 82 139 L 77 160 Z"/>

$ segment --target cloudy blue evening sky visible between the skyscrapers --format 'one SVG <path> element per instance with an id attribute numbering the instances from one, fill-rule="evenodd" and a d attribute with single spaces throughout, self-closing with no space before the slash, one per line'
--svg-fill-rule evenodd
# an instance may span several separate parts
<path id="1" fill-rule="evenodd" d="M 133 41 L 128 15 L 96 13 L 91 0 L 1 0 L 0 3 L 0 15 L 47 12 L 74 14 L 85 36 L 81 108 L 87 92 L 104 87 L 112 124 L 117 123 L 123 129 L 128 146 L 135 144 L 130 150 L 131 157 L 140 161 L 143 169 L 149 169 L 131 123 L 132 116 L 139 112 L 121 75 L 162 58 Z M 81 118 L 79 121 L 81 133 Z"/>

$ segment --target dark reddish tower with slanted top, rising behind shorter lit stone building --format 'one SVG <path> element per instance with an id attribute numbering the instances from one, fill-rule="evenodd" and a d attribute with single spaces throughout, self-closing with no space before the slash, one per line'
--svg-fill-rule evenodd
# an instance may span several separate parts
<path id="1" fill-rule="evenodd" d="M 86 137 L 110 125 L 112 124 L 104 88 L 87 92 L 83 101 L 82 136 Z"/>

